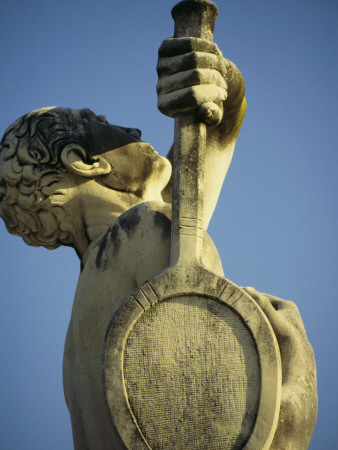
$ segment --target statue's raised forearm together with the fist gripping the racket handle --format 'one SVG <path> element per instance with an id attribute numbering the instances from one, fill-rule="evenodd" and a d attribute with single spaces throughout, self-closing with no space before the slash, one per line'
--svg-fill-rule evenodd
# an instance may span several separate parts
<path id="1" fill-rule="evenodd" d="M 205 103 L 219 108 L 218 121 L 208 124 L 204 173 L 204 222 L 207 227 L 216 207 L 244 119 L 243 77 L 217 45 L 200 38 L 171 38 L 159 49 L 158 108 L 173 117 L 197 112 Z M 206 119 L 207 121 L 208 119 Z M 173 162 L 173 149 L 168 158 Z M 171 183 L 163 192 L 171 201 Z"/>

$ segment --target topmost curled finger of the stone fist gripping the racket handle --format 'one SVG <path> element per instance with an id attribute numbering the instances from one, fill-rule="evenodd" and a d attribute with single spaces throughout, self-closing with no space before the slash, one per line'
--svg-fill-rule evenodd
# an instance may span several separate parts
<path id="1" fill-rule="evenodd" d="M 158 56 L 167 58 L 190 52 L 221 54 L 217 45 L 211 41 L 200 38 L 169 38 L 162 42 L 158 50 Z"/>

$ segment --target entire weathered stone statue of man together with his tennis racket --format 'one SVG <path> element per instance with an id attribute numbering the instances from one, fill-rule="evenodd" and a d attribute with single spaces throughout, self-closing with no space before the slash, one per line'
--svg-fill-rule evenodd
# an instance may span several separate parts
<path id="1" fill-rule="evenodd" d="M 172 13 L 157 67 L 167 158 L 88 109 L 33 111 L 0 144 L 0 215 L 81 259 L 64 352 L 76 449 L 306 449 L 316 368 L 297 307 L 226 280 L 206 233 L 244 81 L 212 42 L 213 3 Z"/>

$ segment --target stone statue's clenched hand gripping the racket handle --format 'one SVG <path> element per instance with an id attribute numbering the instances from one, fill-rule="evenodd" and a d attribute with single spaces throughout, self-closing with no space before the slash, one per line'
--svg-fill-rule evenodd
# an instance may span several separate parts
<path id="1" fill-rule="evenodd" d="M 166 39 L 159 49 L 157 72 L 158 108 L 170 117 L 196 110 L 201 121 L 220 123 L 223 107 L 234 108 L 243 100 L 240 72 L 210 41 Z M 201 107 L 205 104 L 218 111 L 218 120 L 208 120 L 204 106 Z"/>

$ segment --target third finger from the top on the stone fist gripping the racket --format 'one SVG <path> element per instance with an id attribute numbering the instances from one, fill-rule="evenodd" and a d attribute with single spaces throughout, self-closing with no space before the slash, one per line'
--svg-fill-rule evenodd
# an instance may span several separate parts
<path id="1" fill-rule="evenodd" d="M 226 92 L 227 83 L 222 75 L 213 69 L 193 69 L 175 73 L 159 79 L 156 90 L 158 95 L 184 89 L 190 86 L 214 84 Z"/>

